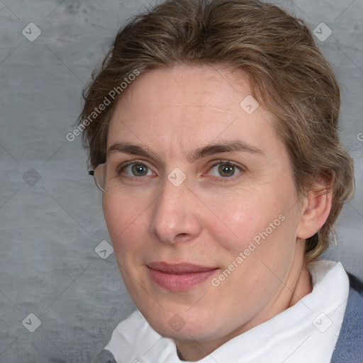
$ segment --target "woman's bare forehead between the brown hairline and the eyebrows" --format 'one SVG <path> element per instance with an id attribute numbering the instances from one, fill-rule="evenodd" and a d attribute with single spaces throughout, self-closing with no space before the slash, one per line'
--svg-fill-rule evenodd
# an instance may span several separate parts
<path id="1" fill-rule="evenodd" d="M 122 94 L 109 125 L 108 147 L 127 141 L 186 151 L 236 136 L 263 147 L 276 138 L 273 122 L 272 113 L 253 99 L 247 73 L 207 65 L 155 69 Z"/>

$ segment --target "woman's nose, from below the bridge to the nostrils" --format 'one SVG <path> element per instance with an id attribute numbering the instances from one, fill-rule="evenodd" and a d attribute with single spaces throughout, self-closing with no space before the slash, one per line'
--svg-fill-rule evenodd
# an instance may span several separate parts
<path id="1" fill-rule="evenodd" d="M 152 203 L 150 233 L 163 243 L 189 241 L 201 233 L 200 201 L 186 181 L 175 186 L 165 179 L 160 194 Z"/>

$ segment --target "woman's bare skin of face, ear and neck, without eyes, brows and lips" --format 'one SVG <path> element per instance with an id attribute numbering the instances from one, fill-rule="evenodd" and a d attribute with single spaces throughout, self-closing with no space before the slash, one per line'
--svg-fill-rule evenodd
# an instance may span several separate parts
<path id="1" fill-rule="evenodd" d="M 108 177 L 118 192 L 104 193 L 103 208 L 130 296 L 157 333 L 172 337 L 184 360 L 206 357 L 312 290 L 304 242 L 328 218 L 331 194 L 310 191 L 298 200 L 274 115 L 262 106 L 249 115 L 240 106 L 250 94 L 247 74 L 228 68 L 152 70 L 122 94 L 108 130 L 108 147 L 146 145 L 160 158 L 110 152 Z M 263 154 L 220 152 L 188 160 L 196 147 L 236 138 Z M 147 175 L 135 176 L 128 167 L 116 177 L 116 168 L 132 160 L 145 163 Z M 218 172 L 225 161 L 241 169 L 225 177 Z M 186 175 L 180 186 L 167 179 L 176 167 Z M 211 278 L 279 215 L 285 220 L 213 286 Z M 218 269 L 192 289 L 169 291 L 151 279 L 146 265 L 154 261 Z M 185 324 L 178 331 L 169 323 L 175 314 Z"/>

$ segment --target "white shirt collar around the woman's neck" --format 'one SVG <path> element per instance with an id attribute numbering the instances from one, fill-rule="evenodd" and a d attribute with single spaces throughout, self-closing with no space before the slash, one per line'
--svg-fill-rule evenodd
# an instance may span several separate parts
<path id="1" fill-rule="evenodd" d="M 309 267 L 313 291 L 274 318 L 225 342 L 199 363 L 329 363 L 347 306 L 349 279 L 340 262 Z M 117 363 L 186 362 L 172 339 L 153 330 L 140 311 L 118 324 L 105 347 Z"/>

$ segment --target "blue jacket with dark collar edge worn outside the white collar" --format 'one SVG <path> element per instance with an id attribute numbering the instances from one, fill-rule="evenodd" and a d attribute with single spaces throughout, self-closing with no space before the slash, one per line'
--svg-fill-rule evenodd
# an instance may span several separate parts
<path id="1" fill-rule="evenodd" d="M 363 363 L 363 284 L 352 274 L 348 273 L 348 277 L 347 307 L 330 363 Z M 116 363 L 116 360 L 111 352 L 101 350 L 92 363 Z"/>

